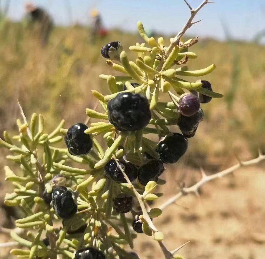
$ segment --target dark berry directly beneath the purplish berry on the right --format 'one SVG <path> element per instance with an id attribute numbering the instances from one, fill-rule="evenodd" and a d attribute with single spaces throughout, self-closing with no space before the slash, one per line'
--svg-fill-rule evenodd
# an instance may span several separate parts
<path id="1" fill-rule="evenodd" d="M 183 116 L 182 114 L 180 114 L 177 124 L 182 133 L 189 133 L 193 132 L 198 127 L 202 119 L 203 119 L 203 110 L 200 108 L 192 116 Z"/>

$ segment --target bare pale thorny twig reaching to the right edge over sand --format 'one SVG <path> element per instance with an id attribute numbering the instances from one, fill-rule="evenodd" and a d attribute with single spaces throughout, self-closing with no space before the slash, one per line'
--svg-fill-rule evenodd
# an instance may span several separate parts
<path id="1" fill-rule="evenodd" d="M 262 155 L 261 153 L 259 153 L 259 156 L 257 158 L 248 160 L 248 161 L 239 161 L 237 165 L 234 165 L 226 170 L 223 170 L 219 173 L 215 173 L 213 175 L 207 176 L 203 170 L 201 170 L 201 174 L 202 174 L 202 178 L 200 181 L 198 181 L 198 183 L 194 184 L 191 187 L 188 188 L 182 188 L 180 190 L 179 193 L 177 193 L 176 195 L 174 195 L 172 198 L 168 199 L 165 203 L 161 204 L 160 206 L 158 206 L 158 208 L 160 208 L 161 210 L 164 210 L 167 206 L 169 206 L 170 204 L 174 203 L 176 200 L 178 200 L 179 198 L 181 198 L 182 196 L 188 194 L 188 193 L 198 193 L 198 189 L 204 184 L 207 183 L 209 181 L 212 181 L 216 178 L 221 178 L 229 173 L 232 173 L 233 171 L 235 171 L 236 169 L 240 168 L 241 166 L 250 166 L 250 165 L 254 165 L 256 163 L 259 163 L 260 161 L 265 159 L 265 155 Z"/>

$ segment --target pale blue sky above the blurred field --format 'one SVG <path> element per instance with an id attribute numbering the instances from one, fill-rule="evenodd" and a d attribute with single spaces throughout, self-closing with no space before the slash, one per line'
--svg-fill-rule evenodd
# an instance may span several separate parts
<path id="1" fill-rule="evenodd" d="M 5 0 L 2 0 L 2 5 Z M 24 13 L 26 0 L 11 0 L 8 16 L 20 19 Z M 158 32 L 175 34 L 189 17 L 189 9 L 183 0 L 32 0 L 45 7 L 57 24 L 69 24 L 67 4 L 72 9 L 73 21 L 87 24 L 90 12 L 97 9 L 107 28 L 120 27 L 136 31 L 136 23 L 141 20 L 146 28 Z M 197 7 L 202 0 L 188 0 Z M 190 35 L 211 36 L 224 39 L 223 21 L 236 39 L 253 39 L 258 31 L 265 29 L 264 0 L 215 0 L 197 14 L 196 20 L 203 19 L 189 31 Z"/>

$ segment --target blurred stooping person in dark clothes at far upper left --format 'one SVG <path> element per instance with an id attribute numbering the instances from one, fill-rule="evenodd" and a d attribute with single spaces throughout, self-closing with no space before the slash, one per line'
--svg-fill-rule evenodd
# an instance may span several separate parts
<path id="1" fill-rule="evenodd" d="M 52 29 L 51 17 L 44 9 L 36 7 L 32 3 L 26 3 L 25 9 L 31 16 L 32 21 L 39 23 L 42 46 L 45 46 L 48 42 L 49 34 Z"/>

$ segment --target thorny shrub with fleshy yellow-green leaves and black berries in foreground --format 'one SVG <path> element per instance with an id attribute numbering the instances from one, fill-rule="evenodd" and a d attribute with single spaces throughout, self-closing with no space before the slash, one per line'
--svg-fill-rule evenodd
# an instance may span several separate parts
<path id="1" fill-rule="evenodd" d="M 77 123 L 64 129 L 61 121 L 48 134 L 44 132 L 42 115 L 34 113 L 28 123 L 20 107 L 23 122 L 17 120 L 19 135 L 11 138 L 5 131 L 4 140 L 0 139 L 0 144 L 12 152 L 6 158 L 19 166 L 18 173 L 5 167 L 6 180 L 15 187 L 6 194 L 5 204 L 19 206 L 25 213 L 16 220 L 16 227 L 25 231 L 11 231 L 11 237 L 20 245 L 11 250 L 12 254 L 29 259 L 135 259 L 138 255 L 128 252 L 126 245 L 133 249 L 136 233 L 145 233 L 158 241 L 166 259 L 181 258 L 176 255 L 179 248 L 165 248 L 163 233 L 152 219 L 183 195 L 198 192 L 203 183 L 265 159 L 259 154 L 256 159 L 240 161 L 212 176 L 202 172 L 201 181 L 194 186 L 183 187 L 158 207 L 148 205 L 148 201 L 162 195 L 155 189 L 166 183 L 159 178 L 163 164 L 177 162 L 188 148 L 187 138 L 195 135 L 203 119 L 200 103 L 222 97 L 212 91 L 208 81 L 181 78 L 200 77 L 216 67 L 212 64 L 190 71 L 181 66 L 197 57 L 188 48 L 198 39 L 184 43 L 180 39 L 207 3 L 203 1 L 197 9 L 187 4 L 191 17 L 170 39 L 168 47 L 163 38 L 149 38 L 138 22 L 145 43 L 130 46 L 138 54 L 135 62 L 128 61 L 118 41 L 102 47 L 107 64 L 124 75 L 100 75 L 107 81 L 110 95 L 92 90 L 103 112 L 87 108 L 86 114 L 99 122 L 90 123 L 89 127 Z M 171 132 L 174 125 L 182 134 Z M 67 148 L 54 146 L 63 139 L 61 134 Z M 80 166 L 69 166 L 72 162 Z"/>

